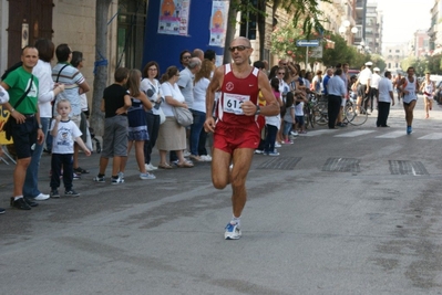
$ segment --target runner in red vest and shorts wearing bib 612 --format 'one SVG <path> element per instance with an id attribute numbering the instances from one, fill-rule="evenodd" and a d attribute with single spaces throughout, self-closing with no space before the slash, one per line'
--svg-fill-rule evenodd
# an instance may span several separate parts
<path id="1" fill-rule="evenodd" d="M 267 76 L 249 65 L 253 49 L 247 38 L 234 39 L 228 49 L 233 63 L 216 69 L 207 89 L 206 131 L 214 133 L 212 181 L 217 189 L 232 185 L 233 218 L 226 225 L 224 238 L 241 236 L 240 217 L 247 200 L 246 178 L 254 150 L 258 147 L 260 130 L 258 115 L 276 116 L 279 106 L 271 92 Z M 215 92 L 222 95 L 217 106 L 217 120 L 212 116 Z M 266 106 L 258 106 L 259 91 Z M 233 164 L 232 170 L 229 169 Z"/>

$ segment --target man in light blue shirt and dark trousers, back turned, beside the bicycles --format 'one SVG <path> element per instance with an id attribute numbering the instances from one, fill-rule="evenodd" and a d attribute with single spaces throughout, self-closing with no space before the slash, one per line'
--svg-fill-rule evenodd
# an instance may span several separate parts
<path id="1" fill-rule="evenodd" d="M 328 92 L 328 128 L 335 129 L 338 119 L 339 109 L 341 107 L 342 97 L 347 95 L 346 84 L 342 78 L 342 69 L 337 69 L 335 75 L 330 77 L 327 84 Z"/>

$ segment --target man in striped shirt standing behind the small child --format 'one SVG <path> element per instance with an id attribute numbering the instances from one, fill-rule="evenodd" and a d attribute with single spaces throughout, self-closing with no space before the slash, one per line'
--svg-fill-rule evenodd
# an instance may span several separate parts
<path id="1" fill-rule="evenodd" d="M 70 64 L 72 60 L 72 50 L 68 44 L 60 44 L 56 46 L 55 55 L 58 64 L 52 69 L 52 80 L 54 83 L 64 84 L 64 92 L 56 95 L 56 101 L 65 98 L 71 103 L 72 112 L 69 117 L 80 128 L 81 124 L 81 97 L 80 95 L 90 91 L 88 82 L 84 80 L 82 73 Z M 89 173 L 79 166 L 79 149 L 80 146 L 74 144 L 73 168 L 74 173 Z"/>

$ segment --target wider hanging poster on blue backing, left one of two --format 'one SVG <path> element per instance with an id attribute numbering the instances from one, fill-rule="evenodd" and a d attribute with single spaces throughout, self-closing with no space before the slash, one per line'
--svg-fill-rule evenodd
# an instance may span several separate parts
<path id="1" fill-rule="evenodd" d="M 187 35 L 191 0 L 162 0 L 158 33 Z"/>

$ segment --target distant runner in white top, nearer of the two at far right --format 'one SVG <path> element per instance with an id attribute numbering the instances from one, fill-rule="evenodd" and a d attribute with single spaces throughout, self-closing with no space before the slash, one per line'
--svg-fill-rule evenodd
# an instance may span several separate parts
<path id="1" fill-rule="evenodd" d="M 413 131 L 411 126 L 413 124 L 413 110 L 418 101 L 417 92 L 419 89 L 419 83 L 414 76 L 414 67 L 407 69 L 407 76 L 402 77 L 399 88 L 403 94 L 402 102 L 405 110 L 407 134 L 411 134 Z"/>

